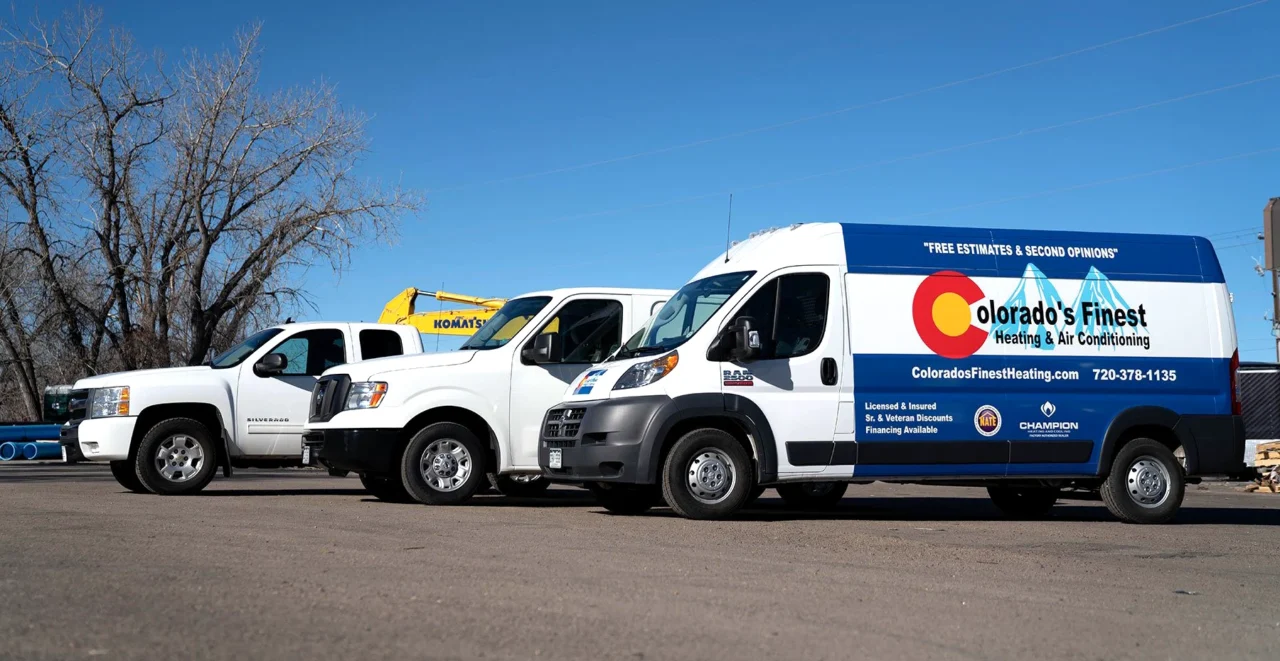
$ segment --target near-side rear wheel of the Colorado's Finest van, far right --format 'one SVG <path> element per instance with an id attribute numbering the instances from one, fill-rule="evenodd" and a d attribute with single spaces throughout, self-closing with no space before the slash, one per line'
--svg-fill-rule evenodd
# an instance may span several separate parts
<path id="1" fill-rule="evenodd" d="M 1107 510 L 1125 523 L 1169 523 L 1187 496 L 1185 477 L 1178 457 L 1158 441 L 1135 438 L 1116 452 L 1111 474 L 1098 492 Z M 1160 488 L 1164 487 L 1162 491 Z M 1158 502 L 1152 493 L 1162 493 Z"/>

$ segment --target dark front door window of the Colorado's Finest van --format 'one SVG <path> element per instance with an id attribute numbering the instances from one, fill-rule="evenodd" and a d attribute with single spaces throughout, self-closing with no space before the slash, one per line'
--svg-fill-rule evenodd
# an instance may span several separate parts
<path id="1" fill-rule="evenodd" d="M 803 356 L 822 343 L 829 284 L 822 273 L 780 275 L 753 293 L 733 320 L 750 316 L 755 322 L 760 360 Z"/>

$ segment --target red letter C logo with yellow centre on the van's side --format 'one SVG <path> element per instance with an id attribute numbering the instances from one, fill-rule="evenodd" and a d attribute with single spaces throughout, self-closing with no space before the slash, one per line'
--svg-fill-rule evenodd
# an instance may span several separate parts
<path id="1" fill-rule="evenodd" d="M 931 351 L 950 359 L 972 356 L 987 341 L 973 325 L 970 305 L 986 296 L 977 283 L 954 270 L 940 270 L 915 290 L 911 318 L 915 332 Z"/>

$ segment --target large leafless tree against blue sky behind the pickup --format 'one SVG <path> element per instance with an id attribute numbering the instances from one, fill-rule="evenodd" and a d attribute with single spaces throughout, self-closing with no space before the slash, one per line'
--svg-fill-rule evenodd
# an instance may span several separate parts
<path id="1" fill-rule="evenodd" d="M 419 209 L 355 174 L 365 118 L 332 86 L 260 90 L 260 31 L 175 67 L 92 9 L 6 31 L 0 379 L 198 363 Z"/>

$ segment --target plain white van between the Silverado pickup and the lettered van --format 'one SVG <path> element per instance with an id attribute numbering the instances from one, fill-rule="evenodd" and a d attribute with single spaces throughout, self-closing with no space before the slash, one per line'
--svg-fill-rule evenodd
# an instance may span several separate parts
<path id="1" fill-rule="evenodd" d="M 388 501 L 460 503 L 488 482 L 509 496 L 536 494 L 547 488 L 538 468 L 543 414 L 672 293 L 527 293 L 507 301 L 457 351 L 332 369 L 312 396 L 308 457 L 358 473 Z"/>

